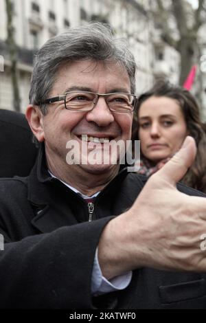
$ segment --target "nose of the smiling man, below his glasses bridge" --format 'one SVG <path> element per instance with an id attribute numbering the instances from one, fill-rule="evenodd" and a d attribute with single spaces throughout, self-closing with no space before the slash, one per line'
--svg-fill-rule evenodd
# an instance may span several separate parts
<path id="1" fill-rule="evenodd" d="M 88 122 L 95 122 L 98 126 L 108 126 L 115 120 L 104 98 L 99 98 L 95 107 L 87 113 L 86 119 Z"/>

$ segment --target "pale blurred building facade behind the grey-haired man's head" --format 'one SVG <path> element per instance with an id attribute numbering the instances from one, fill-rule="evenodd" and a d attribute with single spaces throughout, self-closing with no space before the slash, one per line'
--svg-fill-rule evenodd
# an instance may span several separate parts
<path id="1" fill-rule="evenodd" d="M 137 96 L 148 90 L 155 78 L 179 78 L 179 54 L 161 41 L 150 18 L 150 0 L 12 0 L 14 34 L 19 51 L 21 111 L 28 104 L 32 57 L 36 50 L 69 27 L 102 21 L 110 23 L 117 36 L 125 37 L 135 55 Z M 0 0 L 0 109 L 13 109 L 5 0 Z M 1 65 L 1 62 L 0 62 Z"/>

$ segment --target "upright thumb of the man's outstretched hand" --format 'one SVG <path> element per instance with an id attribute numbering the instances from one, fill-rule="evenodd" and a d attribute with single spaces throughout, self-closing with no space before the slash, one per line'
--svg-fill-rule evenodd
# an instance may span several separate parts
<path id="1" fill-rule="evenodd" d="M 174 186 L 180 181 L 187 169 L 192 166 L 196 156 L 196 143 L 193 137 L 187 136 L 183 146 L 157 173 L 161 179 L 172 183 Z"/>

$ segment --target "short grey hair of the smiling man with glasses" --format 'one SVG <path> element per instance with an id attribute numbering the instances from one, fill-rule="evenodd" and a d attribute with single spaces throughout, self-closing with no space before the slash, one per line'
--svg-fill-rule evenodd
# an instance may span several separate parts
<path id="1" fill-rule="evenodd" d="M 41 105 L 41 102 L 52 91 L 60 66 L 86 59 L 112 61 L 123 65 L 130 78 L 131 92 L 135 93 L 135 58 L 128 50 L 126 41 L 115 38 L 109 25 L 88 23 L 58 34 L 38 50 L 34 59 L 30 104 L 39 105 L 46 114 L 47 106 Z"/>

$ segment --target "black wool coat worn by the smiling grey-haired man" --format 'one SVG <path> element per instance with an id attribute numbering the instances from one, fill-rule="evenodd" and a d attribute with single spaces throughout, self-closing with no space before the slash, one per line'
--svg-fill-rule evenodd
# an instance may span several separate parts
<path id="1" fill-rule="evenodd" d="M 28 177 L 0 179 L 1 309 L 203 309 L 206 274 L 133 271 L 119 292 L 91 297 L 95 249 L 106 223 L 133 204 L 146 179 L 122 170 L 87 203 L 47 173 L 40 151 Z M 179 184 L 190 195 L 203 193 Z"/>

